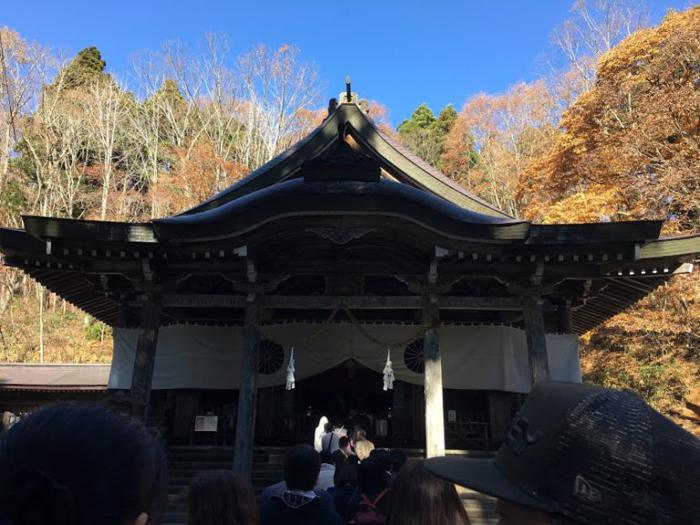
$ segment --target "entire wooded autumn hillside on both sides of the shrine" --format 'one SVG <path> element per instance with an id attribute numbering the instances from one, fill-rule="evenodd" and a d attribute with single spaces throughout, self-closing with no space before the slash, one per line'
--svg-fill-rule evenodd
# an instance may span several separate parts
<path id="1" fill-rule="evenodd" d="M 645 27 L 621 0 L 574 4 L 540 79 L 390 130 L 513 216 L 664 219 L 700 231 L 700 7 Z M 634 4 L 638 6 L 638 4 Z M 0 223 L 20 214 L 139 221 L 184 210 L 260 166 L 325 114 L 296 48 L 233 59 L 221 38 L 167 44 L 109 74 L 0 30 Z M 235 64 L 231 66 L 231 64 Z M 128 87 L 127 87 L 128 86 Z M 371 93 L 363 93 L 371 95 Z M 390 103 L 391 101 L 384 101 Z M 109 330 L 0 266 L 0 360 L 108 361 Z M 677 277 L 582 338 L 587 380 L 631 388 L 700 433 L 700 279 Z"/>

